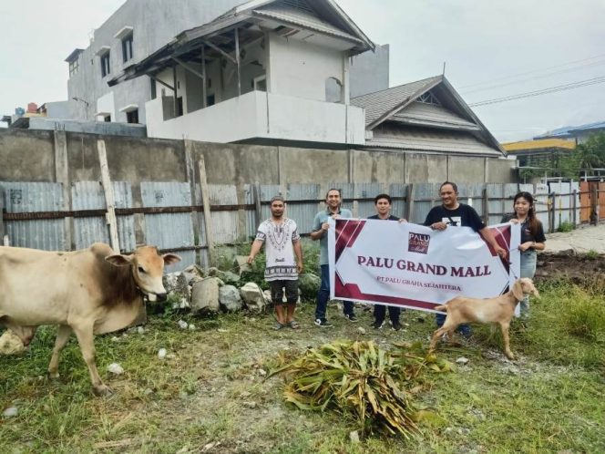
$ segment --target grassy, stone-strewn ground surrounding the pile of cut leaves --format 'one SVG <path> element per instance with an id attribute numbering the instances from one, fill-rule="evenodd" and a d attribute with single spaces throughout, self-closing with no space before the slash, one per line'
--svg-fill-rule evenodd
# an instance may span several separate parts
<path id="1" fill-rule="evenodd" d="M 475 327 L 469 345 L 439 347 L 440 359 L 469 362 L 429 376 L 416 390 L 418 408 L 438 417 L 418 421 L 414 439 L 374 434 L 352 443 L 353 417 L 292 408 L 283 401 L 282 379 L 266 376 L 280 353 L 300 355 L 338 339 L 373 340 L 392 352 L 396 343 L 427 346 L 434 317 L 405 311 L 402 331 L 374 330 L 371 311 L 359 308 L 360 322 L 351 324 L 331 305 L 335 326 L 320 329 L 313 303 L 305 303 L 297 312 L 300 330 L 273 331 L 271 315 L 209 320 L 167 311 L 151 316 L 143 334 L 97 336 L 97 366 L 115 391 L 108 398 L 92 395 L 74 338 L 61 357 L 61 377 L 46 378 L 56 330 L 40 329 L 25 354 L 0 356 L 0 411 L 19 410 L 0 419 L 1 446 L 24 453 L 605 452 L 605 345 L 595 315 L 603 294 L 562 280 L 538 289 L 542 298 L 532 299 L 528 324 L 516 320 L 511 328 L 518 361 L 501 355 L 501 336 L 488 327 Z M 180 318 L 198 329 L 180 330 Z M 170 357 L 159 360 L 159 348 Z M 125 374 L 110 376 L 112 362 Z"/>

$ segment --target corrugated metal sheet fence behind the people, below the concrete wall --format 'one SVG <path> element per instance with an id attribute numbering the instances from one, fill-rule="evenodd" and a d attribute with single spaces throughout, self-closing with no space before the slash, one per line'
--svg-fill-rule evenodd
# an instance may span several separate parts
<path id="1" fill-rule="evenodd" d="M 155 244 L 163 251 L 178 252 L 183 261 L 207 266 L 208 244 L 235 245 L 249 242 L 259 222 L 270 216 L 272 196 L 285 191 L 287 216 L 299 225 L 300 232 L 312 230 L 313 218 L 323 209 L 327 188 L 342 190 L 345 208 L 355 217 L 374 214 L 374 196 L 389 193 L 392 213 L 410 222 L 422 223 L 426 213 L 440 203 L 439 184 L 330 183 L 279 185 L 244 185 L 238 193 L 235 185 L 209 185 L 210 213 L 192 202 L 190 185 L 180 182 L 142 182 L 139 197 L 133 197 L 126 181 L 113 181 L 120 250 L 134 250 L 136 238 Z M 200 191 L 200 187 L 196 188 Z M 545 230 L 553 232 L 559 225 L 585 221 L 580 212 L 590 210 L 580 204 L 579 183 L 531 184 L 460 184 L 459 201 L 472 204 L 487 223 L 500 222 L 503 213 L 512 212 L 512 198 L 518 191 L 536 196 L 538 218 Z M 81 249 L 92 242 L 109 242 L 106 203 L 102 184 L 79 181 L 71 187 L 71 210 L 64 206 L 61 183 L 0 181 L 0 234 L 13 246 L 44 250 Z M 135 206 L 133 198 L 141 201 Z M 0 206 L 0 208 L 2 208 Z M 66 222 L 66 219 L 68 222 Z M 209 242 L 206 223 L 213 238 Z M 66 225 L 68 228 L 66 228 Z M 71 231 L 67 233 L 67 231 Z"/>

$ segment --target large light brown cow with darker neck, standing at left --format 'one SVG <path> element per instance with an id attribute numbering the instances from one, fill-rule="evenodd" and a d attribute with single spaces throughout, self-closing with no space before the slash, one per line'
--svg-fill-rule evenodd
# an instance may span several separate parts
<path id="1" fill-rule="evenodd" d="M 114 253 L 100 242 L 72 253 L 0 246 L 0 325 L 26 346 L 37 326 L 58 325 L 50 377 L 58 377 L 59 353 L 73 331 L 95 394 L 109 394 L 98 376 L 94 335 L 134 322 L 143 295 L 166 299 L 164 264 L 179 261 L 178 255 L 160 255 L 153 246 L 139 247 L 131 255 Z"/>

